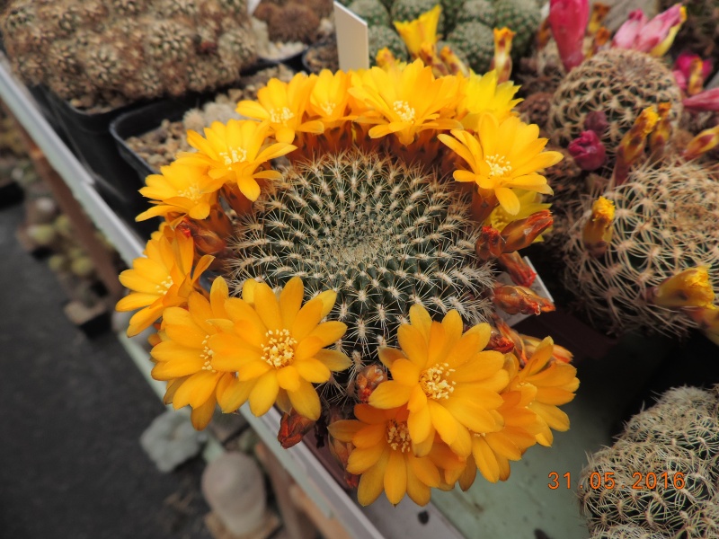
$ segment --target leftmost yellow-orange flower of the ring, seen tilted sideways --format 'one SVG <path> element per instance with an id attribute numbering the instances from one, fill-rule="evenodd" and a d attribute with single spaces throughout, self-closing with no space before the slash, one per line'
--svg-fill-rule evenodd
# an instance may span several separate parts
<path id="1" fill-rule="evenodd" d="M 132 292 L 120 299 L 115 308 L 118 311 L 140 309 L 129 319 L 130 337 L 150 327 L 167 307 L 186 305 L 195 282 L 214 260 L 205 255 L 193 270 L 191 237 L 173 232 L 169 226 L 153 236 L 146 244 L 146 256 L 135 259 L 131 270 L 120 273 L 120 283 Z"/>

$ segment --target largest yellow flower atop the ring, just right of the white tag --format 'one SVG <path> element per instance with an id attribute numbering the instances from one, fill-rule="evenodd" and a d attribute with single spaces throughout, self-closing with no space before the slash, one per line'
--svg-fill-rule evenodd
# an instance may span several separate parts
<path id="1" fill-rule="evenodd" d="M 377 124 L 369 129 L 372 138 L 396 133 L 408 146 L 425 129 L 461 127 L 455 119 L 440 118 L 440 112 L 455 106 L 460 97 L 457 77 L 435 78 L 421 60 L 404 69 L 372 67 L 352 77 L 349 92 L 368 109 L 356 121 Z"/>

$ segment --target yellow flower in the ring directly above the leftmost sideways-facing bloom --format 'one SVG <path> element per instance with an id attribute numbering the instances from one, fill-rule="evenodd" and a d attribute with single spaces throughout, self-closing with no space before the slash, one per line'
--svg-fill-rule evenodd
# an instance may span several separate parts
<path id="1" fill-rule="evenodd" d="M 140 193 L 155 204 L 137 216 L 137 221 L 150 217 L 180 214 L 193 219 L 209 216 L 209 208 L 217 200 L 217 190 L 224 181 L 213 180 L 207 165 L 191 165 L 174 161 L 160 169 L 159 174 L 146 178 Z"/>

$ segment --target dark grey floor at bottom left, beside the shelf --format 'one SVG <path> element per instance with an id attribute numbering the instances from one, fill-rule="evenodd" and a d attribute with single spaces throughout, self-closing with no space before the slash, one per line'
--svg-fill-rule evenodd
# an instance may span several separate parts
<path id="1" fill-rule="evenodd" d="M 69 323 L 54 274 L 0 210 L 0 537 L 206 539 L 195 460 L 155 469 L 138 437 L 164 411 L 111 333 Z"/>

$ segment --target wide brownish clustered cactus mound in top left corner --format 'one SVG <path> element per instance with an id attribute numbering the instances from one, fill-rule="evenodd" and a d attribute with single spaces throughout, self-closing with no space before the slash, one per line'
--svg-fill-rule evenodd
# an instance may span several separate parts
<path id="1" fill-rule="evenodd" d="M 27 84 L 77 106 L 230 84 L 253 64 L 244 0 L 13 0 L 5 48 Z"/>

